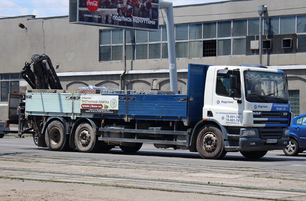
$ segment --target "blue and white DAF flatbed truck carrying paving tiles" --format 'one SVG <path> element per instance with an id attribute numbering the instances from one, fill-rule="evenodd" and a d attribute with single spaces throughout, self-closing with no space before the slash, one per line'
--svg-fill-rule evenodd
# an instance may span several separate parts
<path id="1" fill-rule="evenodd" d="M 288 145 L 292 119 L 284 72 L 248 64 L 189 64 L 185 95 L 33 89 L 19 103 L 19 136 L 34 132 L 51 151 L 136 152 L 152 143 L 205 159 L 238 151 L 261 158 Z"/>

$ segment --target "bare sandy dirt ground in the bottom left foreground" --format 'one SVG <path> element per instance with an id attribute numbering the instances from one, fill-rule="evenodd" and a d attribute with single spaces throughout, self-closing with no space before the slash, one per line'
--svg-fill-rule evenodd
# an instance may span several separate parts
<path id="1" fill-rule="evenodd" d="M 256 199 L 135 188 L 0 179 L 0 201 L 251 201 Z"/>

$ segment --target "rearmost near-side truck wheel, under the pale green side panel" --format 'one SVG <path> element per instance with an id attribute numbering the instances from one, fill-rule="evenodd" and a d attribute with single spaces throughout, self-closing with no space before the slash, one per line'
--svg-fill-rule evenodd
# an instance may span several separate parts
<path id="1" fill-rule="evenodd" d="M 51 121 L 48 125 L 45 141 L 50 151 L 66 151 L 69 149 L 69 135 L 62 122 Z"/>

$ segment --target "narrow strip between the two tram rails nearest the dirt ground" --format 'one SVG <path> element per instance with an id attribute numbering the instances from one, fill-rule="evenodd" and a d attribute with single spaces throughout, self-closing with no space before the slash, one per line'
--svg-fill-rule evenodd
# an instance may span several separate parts
<path id="1" fill-rule="evenodd" d="M 291 196 L 303 196 L 306 191 L 303 190 L 290 190 L 290 189 L 276 189 L 276 188 L 258 188 L 258 187 L 246 187 L 246 186 L 234 186 L 234 185 L 221 185 L 221 184 L 208 184 L 208 183 L 200 183 L 200 182 L 185 182 L 185 181 L 174 181 L 174 180 L 155 180 L 155 179 L 146 179 L 146 178 L 136 178 L 136 177 L 114 177 L 114 176 L 102 176 L 102 175 L 90 175 L 90 174 L 72 174 L 72 173 L 58 173 L 58 172 L 45 172 L 45 171 L 33 171 L 33 170 L 23 170 L 23 169 L 5 169 L 0 168 L 0 170 L 6 170 L 9 173 L 10 171 L 17 171 L 18 177 L 11 176 L 0 176 L 0 178 L 14 178 L 14 179 L 28 179 L 28 180 L 36 180 L 36 181 L 49 181 L 49 182 L 60 182 L 62 175 L 65 176 L 76 176 L 76 177 L 92 177 L 95 178 L 95 182 L 90 182 L 91 179 L 82 181 L 61 181 L 67 183 L 82 183 L 82 184 L 95 184 L 95 185 L 105 185 L 105 186 L 113 186 L 113 187 L 124 187 L 124 188 L 139 188 L 139 189 L 151 189 L 151 190 L 160 190 L 160 191 L 171 191 L 171 192 L 192 192 L 192 193 L 202 193 L 208 195 L 224 195 L 224 196 L 233 196 L 233 197 L 244 197 L 244 198 L 252 198 L 252 199 L 269 199 L 269 200 L 288 200 L 288 201 L 300 201 L 300 199 L 291 199 Z M 20 175 L 20 172 L 30 172 L 30 173 L 38 173 L 38 174 L 47 174 L 52 179 L 38 179 L 38 178 L 23 178 Z M 109 180 L 127 180 L 128 184 L 125 182 L 115 182 L 116 184 L 109 184 L 107 182 L 99 182 L 99 178 L 106 178 Z M 136 182 L 135 182 L 136 181 Z M 139 182 L 141 181 L 141 182 Z M 162 184 L 163 183 L 163 184 Z M 172 185 L 171 183 L 176 183 L 176 185 Z M 186 184 L 190 185 L 188 189 L 186 189 Z M 158 187 L 164 188 L 158 188 Z M 206 186 L 206 187 L 203 187 Z M 208 186 L 208 188 L 207 188 Z M 224 188 L 226 187 L 226 188 Z M 237 189 L 242 189 L 243 194 L 233 194 Z M 273 193 L 271 193 L 273 191 Z M 238 190 L 239 192 L 239 190 Z M 267 192 L 267 193 L 265 193 Z M 288 196 L 285 195 L 285 192 L 289 192 Z M 247 195 L 244 195 L 244 194 Z M 252 196 L 250 195 L 252 194 Z M 270 196 L 269 195 L 273 195 Z M 265 196 L 259 196 L 265 195 Z M 284 196 L 285 198 L 276 198 L 276 196 Z M 302 200 L 302 199 L 301 199 Z"/>

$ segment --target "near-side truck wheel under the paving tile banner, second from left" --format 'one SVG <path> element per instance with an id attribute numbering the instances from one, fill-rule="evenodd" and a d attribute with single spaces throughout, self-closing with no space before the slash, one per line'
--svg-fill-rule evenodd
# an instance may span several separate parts
<path id="1" fill-rule="evenodd" d="M 95 135 L 94 129 L 87 122 L 81 123 L 77 128 L 74 136 L 74 143 L 77 150 L 88 153 L 96 151 L 98 136 Z"/>

